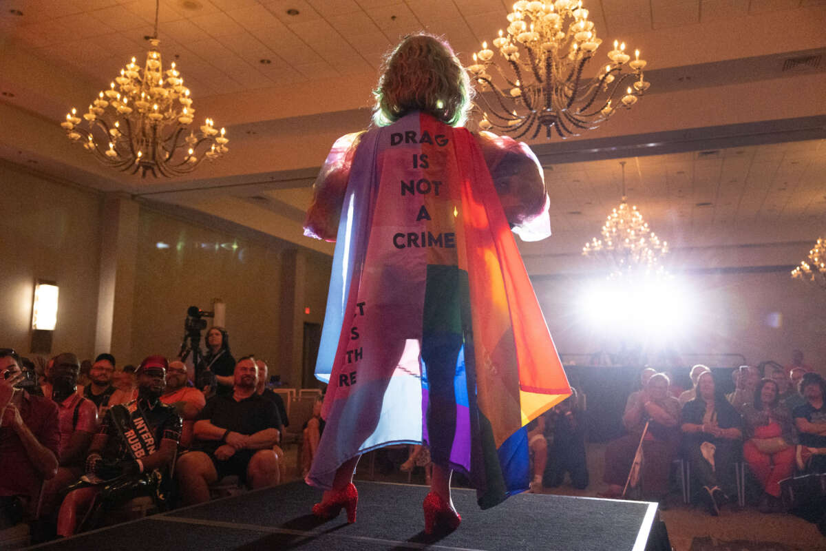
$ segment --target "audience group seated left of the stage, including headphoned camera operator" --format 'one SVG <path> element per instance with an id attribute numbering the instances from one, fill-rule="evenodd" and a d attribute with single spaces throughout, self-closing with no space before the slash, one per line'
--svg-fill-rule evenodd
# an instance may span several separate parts
<path id="1" fill-rule="evenodd" d="M 25 522 L 36 543 L 102 525 L 139 497 L 164 511 L 208 501 L 210 485 L 228 476 L 250 488 L 278 484 L 284 401 L 266 386 L 267 364 L 236 363 L 221 347 L 225 331 L 215 332 L 198 377 L 158 355 L 127 370 L 100 354 L 85 377 L 70 353 L 24 369 L 19 354 L 0 349 L 0 530 Z M 309 460 L 319 420 L 307 425 Z"/>

